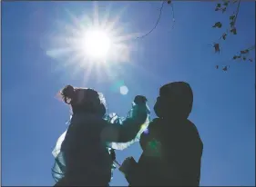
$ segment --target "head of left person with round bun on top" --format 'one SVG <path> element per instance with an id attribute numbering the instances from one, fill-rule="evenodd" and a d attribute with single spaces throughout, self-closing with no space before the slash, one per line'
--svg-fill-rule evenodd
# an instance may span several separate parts
<path id="1" fill-rule="evenodd" d="M 106 113 L 106 101 L 103 94 L 89 88 L 74 88 L 67 85 L 60 91 L 63 101 L 71 105 L 73 113 Z"/>

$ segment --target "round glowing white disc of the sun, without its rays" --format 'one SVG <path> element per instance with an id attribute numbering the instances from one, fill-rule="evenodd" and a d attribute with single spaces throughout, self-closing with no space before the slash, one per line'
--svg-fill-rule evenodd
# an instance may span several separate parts
<path id="1" fill-rule="evenodd" d="M 101 29 L 89 29 L 82 38 L 82 47 L 87 56 L 94 59 L 108 57 L 111 39 L 107 31 Z"/>

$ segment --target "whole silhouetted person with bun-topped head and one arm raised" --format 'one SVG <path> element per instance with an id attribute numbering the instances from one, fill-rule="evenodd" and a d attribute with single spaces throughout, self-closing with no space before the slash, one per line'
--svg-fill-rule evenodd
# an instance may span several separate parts
<path id="1" fill-rule="evenodd" d="M 95 90 L 67 85 L 60 94 L 73 114 L 53 152 L 56 186 L 108 186 L 115 159 L 111 143 L 118 147 L 137 138 L 148 120 L 147 99 L 136 96 L 127 118 L 121 119 L 106 115 L 105 99 Z"/>

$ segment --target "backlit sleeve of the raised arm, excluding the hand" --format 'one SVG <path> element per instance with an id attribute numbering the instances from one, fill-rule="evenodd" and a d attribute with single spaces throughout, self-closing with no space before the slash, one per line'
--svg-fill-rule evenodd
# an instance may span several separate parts
<path id="1" fill-rule="evenodd" d="M 110 113 L 101 131 L 102 141 L 113 149 L 122 150 L 139 140 L 139 136 L 148 128 L 149 109 L 147 103 L 132 103 L 126 118 Z"/>

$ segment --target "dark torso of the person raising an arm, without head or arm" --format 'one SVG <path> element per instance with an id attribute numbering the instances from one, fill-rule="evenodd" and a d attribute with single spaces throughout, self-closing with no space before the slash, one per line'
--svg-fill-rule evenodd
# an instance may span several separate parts
<path id="1" fill-rule="evenodd" d="M 104 178 L 103 181 L 110 182 L 112 161 L 106 145 L 100 140 L 100 125 L 100 120 L 94 117 L 76 116 L 62 144 L 67 172 L 81 176 L 81 180 L 96 177 L 94 181 Z"/>

